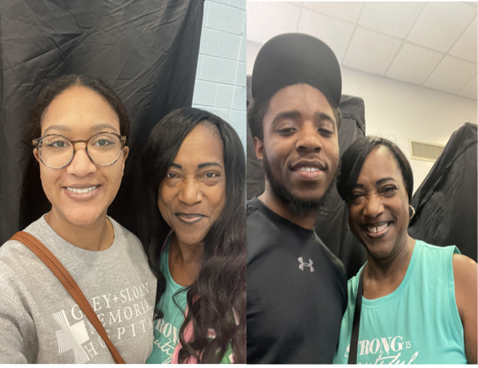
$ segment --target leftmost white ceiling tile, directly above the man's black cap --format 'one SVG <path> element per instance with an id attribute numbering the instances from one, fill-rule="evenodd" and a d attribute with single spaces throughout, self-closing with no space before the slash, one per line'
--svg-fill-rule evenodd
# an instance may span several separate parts
<path id="1" fill-rule="evenodd" d="M 300 5 L 286 1 L 248 1 L 247 39 L 266 43 L 277 34 L 297 32 Z"/>

